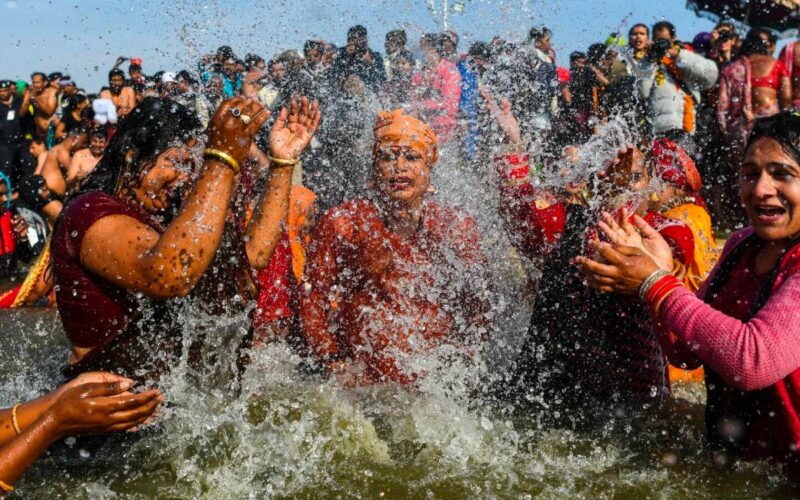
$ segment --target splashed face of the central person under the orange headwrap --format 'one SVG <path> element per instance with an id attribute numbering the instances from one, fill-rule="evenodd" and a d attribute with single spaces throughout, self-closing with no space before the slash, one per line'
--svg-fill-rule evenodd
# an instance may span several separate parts
<path id="1" fill-rule="evenodd" d="M 396 143 L 380 144 L 373 164 L 373 188 L 401 205 L 420 203 L 430 189 L 431 165 L 416 149 Z"/>

